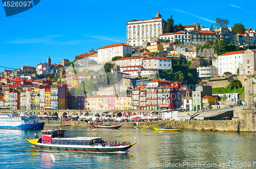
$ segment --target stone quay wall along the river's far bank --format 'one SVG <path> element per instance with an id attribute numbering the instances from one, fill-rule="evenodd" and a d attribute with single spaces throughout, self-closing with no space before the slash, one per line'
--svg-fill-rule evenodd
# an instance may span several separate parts
<path id="1" fill-rule="evenodd" d="M 256 110 L 253 108 L 235 107 L 234 115 L 239 118 L 233 120 L 193 120 L 193 121 L 165 121 L 165 125 L 173 128 L 185 127 L 185 129 L 206 131 L 230 131 L 230 132 L 254 132 L 256 131 Z M 122 127 L 136 127 L 136 122 L 104 122 L 110 125 L 123 125 Z M 139 129 L 154 125 L 159 121 L 138 122 Z M 60 121 L 45 121 L 45 125 L 60 126 Z M 62 121 L 62 125 L 90 126 L 87 122 Z M 145 129 L 146 130 L 146 129 Z"/>

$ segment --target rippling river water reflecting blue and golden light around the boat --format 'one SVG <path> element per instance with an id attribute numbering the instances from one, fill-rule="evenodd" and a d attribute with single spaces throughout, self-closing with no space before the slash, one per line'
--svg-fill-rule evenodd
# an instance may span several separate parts
<path id="1" fill-rule="evenodd" d="M 45 129 L 56 128 L 45 126 Z M 66 126 L 67 136 L 101 136 L 103 140 L 137 142 L 129 151 L 88 153 L 40 150 L 23 137 L 30 130 L 0 130 L 1 168 L 256 168 L 256 133 L 152 128 L 96 129 Z M 32 136 L 33 137 L 33 136 Z M 186 162 L 186 163 L 184 163 Z M 233 162 L 234 166 L 228 167 Z M 239 165 L 236 162 L 243 162 Z M 246 162 L 246 167 L 245 163 Z M 184 165 L 177 166 L 178 163 Z M 193 164 L 197 166 L 193 167 Z M 217 167 L 198 164 L 216 163 Z M 219 167 L 220 163 L 224 167 Z M 176 166 L 175 166 L 176 164 Z M 186 165 L 191 164 L 191 166 Z M 248 167 L 248 165 L 251 165 Z M 214 166 L 214 165 L 213 165 Z M 160 168 L 160 167 L 158 167 Z"/>

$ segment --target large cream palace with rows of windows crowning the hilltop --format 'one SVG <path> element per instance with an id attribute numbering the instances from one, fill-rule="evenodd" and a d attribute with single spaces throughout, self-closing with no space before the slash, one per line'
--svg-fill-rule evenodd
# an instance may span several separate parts
<path id="1" fill-rule="evenodd" d="M 131 20 L 126 23 L 126 44 L 130 46 L 142 46 L 142 42 L 151 42 L 153 37 L 163 34 L 166 21 L 162 15 L 147 20 Z"/>

